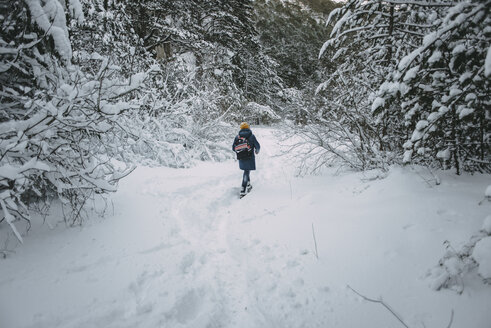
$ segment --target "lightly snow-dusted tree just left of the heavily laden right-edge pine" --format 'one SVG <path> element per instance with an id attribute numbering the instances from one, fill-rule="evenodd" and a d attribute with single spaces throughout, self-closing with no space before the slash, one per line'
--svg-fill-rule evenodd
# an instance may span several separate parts
<path id="1" fill-rule="evenodd" d="M 359 167 L 380 166 L 400 152 L 404 129 L 398 104 L 384 98 L 374 101 L 374 94 L 431 30 L 441 8 L 449 5 L 351 0 L 329 15 L 333 30 L 320 56 L 330 56 L 336 66 L 327 70 L 328 79 L 317 91 L 328 99 L 323 116 L 330 122 L 329 130 L 337 131 L 329 140 L 350 145 L 350 152 L 358 154 Z M 332 152 L 334 146 L 327 149 Z"/>

